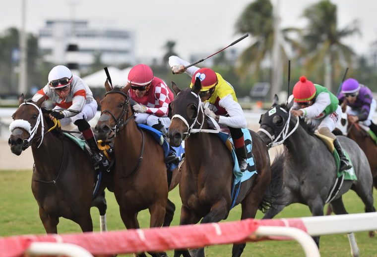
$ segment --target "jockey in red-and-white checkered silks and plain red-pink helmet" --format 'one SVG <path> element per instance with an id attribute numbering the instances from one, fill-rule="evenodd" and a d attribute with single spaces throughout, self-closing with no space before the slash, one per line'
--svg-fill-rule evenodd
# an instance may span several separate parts
<path id="1" fill-rule="evenodd" d="M 154 77 L 152 69 L 145 64 L 134 66 L 128 73 L 127 82 L 131 84 L 129 97 L 137 103 L 132 106 L 136 113 L 135 122 L 157 129 L 167 138 L 166 129 L 170 126 L 169 103 L 174 98 L 170 88 L 163 80 Z M 173 148 L 170 148 L 165 161 L 178 165 L 179 158 Z"/>

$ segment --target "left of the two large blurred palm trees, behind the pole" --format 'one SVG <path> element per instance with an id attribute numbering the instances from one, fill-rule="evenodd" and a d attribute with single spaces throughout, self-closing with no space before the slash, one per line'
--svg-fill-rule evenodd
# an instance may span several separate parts
<path id="1" fill-rule="evenodd" d="M 238 73 L 242 77 L 245 78 L 251 72 L 253 78 L 258 80 L 261 74 L 262 61 L 265 58 L 272 58 L 275 40 L 274 18 L 273 6 L 270 0 L 255 0 L 251 2 L 238 18 L 236 32 L 249 33 L 253 39 L 253 43 L 241 53 L 239 58 Z M 280 30 L 279 33 L 283 42 L 289 43 L 292 47 L 298 47 L 299 43 L 290 39 L 289 33 L 297 33 L 299 31 L 296 28 L 285 28 Z M 288 59 L 283 42 L 279 43 L 280 45 L 278 46 L 282 55 L 281 63 L 285 63 Z M 273 63 L 272 59 L 271 63 Z M 279 88 L 275 88 L 275 90 L 279 90 Z"/>

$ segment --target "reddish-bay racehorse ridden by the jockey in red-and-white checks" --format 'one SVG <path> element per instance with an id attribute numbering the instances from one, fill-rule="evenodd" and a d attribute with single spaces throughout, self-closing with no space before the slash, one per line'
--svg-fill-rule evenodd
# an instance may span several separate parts
<path id="1" fill-rule="evenodd" d="M 137 127 L 127 94 L 130 84 L 111 88 L 106 81 L 105 88 L 107 92 L 100 102 L 101 117 L 95 129 L 104 140 L 114 132 L 113 189 L 122 220 L 127 229 L 139 228 L 137 214 L 148 209 L 150 227 L 169 226 L 175 205 L 168 199 L 168 191 L 178 184 L 180 173 L 173 171 L 168 188 L 163 148 L 151 134 Z"/>

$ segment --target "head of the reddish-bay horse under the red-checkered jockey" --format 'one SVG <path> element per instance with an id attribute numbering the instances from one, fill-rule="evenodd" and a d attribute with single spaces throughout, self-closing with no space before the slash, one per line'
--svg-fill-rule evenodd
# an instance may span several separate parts
<path id="1" fill-rule="evenodd" d="M 130 86 L 128 83 L 125 87 L 111 88 L 108 81 L 105 82 L 106 94 L 100 102 L 101 116 L 95 127 L 99 139 L 106 140 L 111 132 L 116 133 L 124 127 L 125 119 L 132 113 L 128 97 Z"/>

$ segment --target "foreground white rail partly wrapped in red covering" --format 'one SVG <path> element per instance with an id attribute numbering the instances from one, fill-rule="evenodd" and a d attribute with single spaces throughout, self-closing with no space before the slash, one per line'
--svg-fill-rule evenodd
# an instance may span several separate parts
<path id="1" fill-rule="evenodd" d="M 293 238 L 302 245 L 306 256 L 318 257 L 318 249 L 310 235 L 376 229 L 377 213 L 265 220 L 246 219 L 234 222 L 131 229 L 106 233 L 5 237 L 0 238 L 0 256 L 21 257 L 26 253 L 29 255 L 64 254 L 72 257 L 106 256 Z M 52 245 L 52 243 L 54 244 Z M 68 251 L 70 248 L 73 251 L 71 253 Z M 60 250 L 62 252 L 59 252 Z"/>

